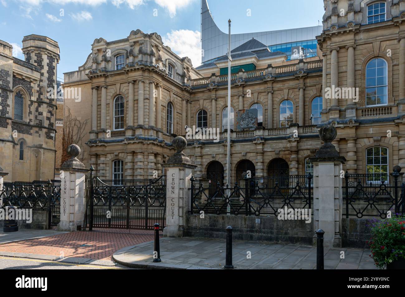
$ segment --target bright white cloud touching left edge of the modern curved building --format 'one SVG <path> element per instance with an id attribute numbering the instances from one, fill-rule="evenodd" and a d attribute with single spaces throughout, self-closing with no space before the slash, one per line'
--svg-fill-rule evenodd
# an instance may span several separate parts
<path id="1" fill-rule="evenodd" d="M 180 57 L 189 57 L 193 67 L 201 65 L 201 32 L 192 30 L 172 30 L 162 38 L 164 45 Z"/>

